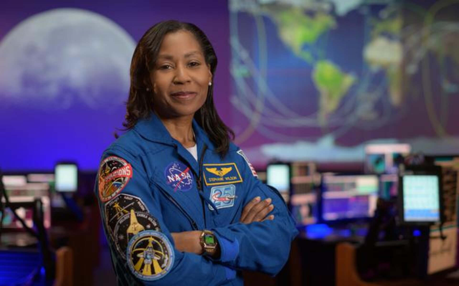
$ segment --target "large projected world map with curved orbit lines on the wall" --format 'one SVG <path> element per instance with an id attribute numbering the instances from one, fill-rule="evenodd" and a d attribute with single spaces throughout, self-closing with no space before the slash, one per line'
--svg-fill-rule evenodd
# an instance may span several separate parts
<path id="1" fill-rule="evenodd" d="M 458 152 L 459 22 L 445 11 L 459 5 L 412 2 L 230 1 L 233 128 L 249 157 L 356 160 L 371 140 Z"/>

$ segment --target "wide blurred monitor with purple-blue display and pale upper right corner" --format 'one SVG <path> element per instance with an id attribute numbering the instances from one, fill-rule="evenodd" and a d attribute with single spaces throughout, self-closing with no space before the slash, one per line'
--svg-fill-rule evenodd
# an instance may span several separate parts
<path id="1" fill-rule="evenodd" d="M 379 181 L 376 175 L 322 175 L 322 220 L 364 219 L 374 215 Z"/>

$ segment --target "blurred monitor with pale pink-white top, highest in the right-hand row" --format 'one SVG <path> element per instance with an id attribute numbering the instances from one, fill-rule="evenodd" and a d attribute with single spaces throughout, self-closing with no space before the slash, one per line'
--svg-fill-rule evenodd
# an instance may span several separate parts
<path id="1" fill-rule="evenodd" d="M 409 144 L 368 144 L 365 146 L 365 173 L 397 174 L 410 151 Z"/>

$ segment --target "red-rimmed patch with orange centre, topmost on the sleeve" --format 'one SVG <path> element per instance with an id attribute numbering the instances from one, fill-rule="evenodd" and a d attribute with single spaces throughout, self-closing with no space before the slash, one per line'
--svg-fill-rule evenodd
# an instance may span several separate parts
<path id="1" fill-rule="evenodd" d="M 99 168 L 99 197 L 106 202 L 118 195 L 132 178 L 131 164 L 120 157 L 110 156 Z"/>

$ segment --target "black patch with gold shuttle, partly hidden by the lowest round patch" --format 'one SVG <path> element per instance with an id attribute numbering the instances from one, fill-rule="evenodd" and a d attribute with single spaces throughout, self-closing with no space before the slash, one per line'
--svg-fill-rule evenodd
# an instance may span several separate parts
<path id="1" fill-rule="evenodd" d="M 123 258 L 126 258 L 126 248 L 129 240 L 144 230 L 161 231 L 157 219 L 153 218 L 149 213 L 131 210 L 130 213 L 125 214 L 118 220 L 113 236 L 118 252 Z"/>

